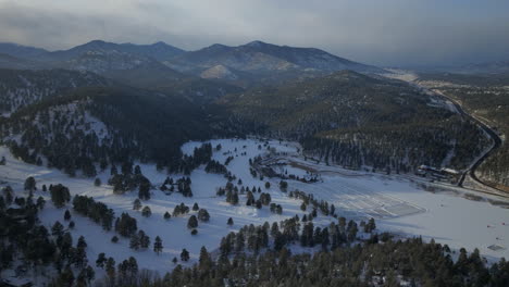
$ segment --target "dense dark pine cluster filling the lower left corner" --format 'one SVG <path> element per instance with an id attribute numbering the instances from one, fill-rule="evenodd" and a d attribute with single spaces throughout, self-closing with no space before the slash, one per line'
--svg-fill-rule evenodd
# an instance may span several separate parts
<path id="1" fill-rule="evenodd" d="M 14 269 L 17 275 L 24 276 L 28 270 L 57 270 L 59 275 L 51 283 L 54 286 L 91 284 L 95 271 L 88 265 L 85 238 L 79 237 L 74 245 L 71 233 L 60 222 L 55 222 L 50 230 L 41 225 L 38 220 L 38 212 L 45 208 L 41 197 L 36 201 L 32 195 L 23 200 L 12 197 L 12 188 L 3 188 L 0 196 L 0 272 Z M 65 212 L 65 219 L 70 220 L 69 212 Z"/>

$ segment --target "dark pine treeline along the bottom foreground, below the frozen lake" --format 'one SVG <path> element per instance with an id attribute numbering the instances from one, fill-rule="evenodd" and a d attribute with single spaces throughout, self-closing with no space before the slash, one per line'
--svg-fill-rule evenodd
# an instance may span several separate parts
<path id="1" fill-rule="evenodd" d="M 405 284 L 502 287 L 509 284 L 509 262 L 502 259 L 489 266 L 479 250 L 468 254 L 460 249 L 455 262 L 449 247 L 433 240 L 392 240 L 390 236 L 382 236 L 378 241 L 374 240 L 376 235 L 373 235 L 365 242 L 355 244 L 346 234 L 345 240 L 339 242 L 331 235 L 342 233 L 339 224 L 331 229 L 336 230 L 328 233 L 327 228 L 316 232 L 316 227 L 313 230 L 312 224 L 308 223 L 300 235 L 295 219 L 282 222 L 281 229 L 277 223 L 272 227 L 268 225 L 245 226 L 239 233 L 229 234 L 223 238 L 215 260 L 202 248 L 199 262 L 191 267 L 178 264 L 162 278 L 150 272 L 137 272 L 131 274 L 134 277 L 129 284 L 119 282 L 110 286 L 368 287 Z M 315 252 L 293 254 L 288 244 L 299 241 L 302 247 L 312 248 Z M 183 257 L 183 260 L 186 259 Z M 111 279 L 112 276 L 109 276 L 103 282 L 112 283 Z"/>

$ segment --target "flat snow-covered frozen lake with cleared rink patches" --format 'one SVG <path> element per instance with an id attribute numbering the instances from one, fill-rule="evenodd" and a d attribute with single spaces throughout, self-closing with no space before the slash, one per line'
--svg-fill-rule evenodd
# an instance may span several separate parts
<path id="1" fill-rule="evenodd" d="M 465 190 L 457 187 L 437 188 L 437 192 L 419 188 L 406 176 L 387 176 L 367 172 L 356 172 L 338 166 L 327 166 L 313 160 L 305 161 L 294 153 L 281 157 L 274 170 L 288 173 L 295 166 L 320 174 L 321 180 L 314 184 L 289 182 L 289 190 L 299 189 L 315 198 L 333 203 L 343 215 L 376 220 L 380 229 L 402 236 L 434 238 L 454 249 L 464 247 L 471 251 L 479 248 L 488 260 L 509 258 L 509 209 L 493 205 L 485 199 L 508 202 L 499 197 L 485 197 L 482 201 L 464 198 Z M 502 247 L 492 250 L 489 246 Z"/>

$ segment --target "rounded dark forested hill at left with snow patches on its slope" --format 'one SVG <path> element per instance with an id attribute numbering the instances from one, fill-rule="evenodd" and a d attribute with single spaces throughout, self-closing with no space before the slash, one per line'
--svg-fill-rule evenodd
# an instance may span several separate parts
<path id="1" fill-rule="evenodd" d="M 150 112 L 147 112 L 150 111 Z M 184 98 L 127 87 L 79 88 L 40 101 L 3 118 L 2 140 L 33 164 L 82 170 L 135 160 L 161 169 L 178 164 L 181 146 L 191 139 L 231 136 L 200 105 Z"/>

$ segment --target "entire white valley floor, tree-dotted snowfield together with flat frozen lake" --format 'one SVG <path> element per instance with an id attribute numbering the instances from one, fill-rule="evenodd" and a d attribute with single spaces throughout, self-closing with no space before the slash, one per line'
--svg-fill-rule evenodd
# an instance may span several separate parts
<path id="1" fill-rule="evenodd" d="M 72 211 L 76 227 L 72 230 L 76 241 L 79 235 L 84 235 L 88 242 L 88 260 L 95 262 L 98 253 L 105 252 L 107 257 L 113 257 L 116 262 L 135 255 L 142 269 L 159 271 L 163 274 L 171 271 L 174 264 L 171 260 L 179 258 L 183 248 L 189 250 L 191 260 L 185 265 L 190 265 L 198 259 L 201 246 L 213 251 L 220 245 L 220 240 L 229 232 L 235 232 L 246 224 L 260 225 L 265 221 L 282 221 L 286 217 L 303 213 L 299 209 L 301 201 L 290 199 L 280 190 L 280 178 L 272 178 L 272 187 L 265 190 L 264 182 L 253 178 L 249 172 L 249 159 L 266 153 L 266 148 L 259 149 L 262 141 L 256 139 L 218 139 L 210 141 L 213 147 L 222 145 L 221 151 L 214 151 L 213 159 L 224 163 L 227 157 L 234 160 L 227 165 L 228 171 L 243 180 L 244 186 L 261 187 L 264 192 L 269 191 L 272 202 L 283 205 L 283 214 L 276 215 L 269 211 L 268 207 L 258 210 L 245 205 L 245 196 L 240 196 L 238 205 L 229 205 L 224 197 L 216 197 L 215 191 L 220 186 L 226 184 L 222 175 L 208 174 L 203 166 L 191 174 L 191 189 L 194 197 L 184 198 L 174 192 L 171 196 L 160 190 L 152 190 L 150 200 L 142 202 L 152 211 L 151 217 L 142 217 L 140 212 L 133 211 L 133 201 L 137 198 L 137 191 L 127 192 L 123 196 L 113 195 L 112 188 L 104 183 L 108 182 L 108 172 L 99 175 L 103 185 L 94 186 L 94 179 L 75 177 L 70 178 L 61 172 L 44 166 L 28 165 L 12 158 L 9 150 L 0 147 L 0 157 L 7 158 L 7 165 L 0 166 L 1 186 L 11 185 L 17 194 L 23 192 L 23 183 L 26 177 L 34 176 L 39 190 L 38 196 L 47 199 L 47 205 L 40 213 L 45 225 L 50 227 L 57 220 L 63 222 L 65 208 L 55 209 L 49 199 L 49 192 L 40 191 L 42 184 L 63 184 L 67 186 L 72 195 L 87 195 L 97 201 L 104 202 L 115 211 L 119 216 L 122 212 L 128 212 L 138 221 L 138 229 L 145 230 L 151 238 L 160 236 L 163 240 L 164 250 L 157 255 L 151 249 L 145 251 L 133 251 L 128 248 L 128 239 L 122 238 L 119 244 L 110 241 L 114 232 L 104 232 L 99 225 Z M 183 151 L 191 153 L 195 147 L 201 142 L 188 142 L 184 145 Z M 432 194 L 417 187 L 414 183 L 404 177 L 390 177 L 380 174 L 352 172 L 337 166 L 326 166 L 305 161 L 297 154 L 298 145 L 293 142 L 270 141 L 269 146 L 277 152 L 286 152 L 286 162 L 291 165 L 280 165 L 299 176 L 306 176 L 306 171 L 319 174 L 320 180 L 313 184 L 305 184 L 297 180 L 288 180 L 289 190 L 299 189 L 313 194 L 315 198 L 323 199 L 336 207 L 336 213 L 349 219 L 375 217 L 378 229 L 390 230 L 405 236 L 422 236 L 424 239 L 435 238 L 436 241 L 447 244 L 454 249 L 461 247 L 469 251 L 477 247 L 482 254 L 488 259 L 509 258 L 509 210 L 492 205 L 483 201 L 472 201 L 455 195 L 454 192 Z M 235 151 L 236 149 L 236 151 Z M 246 155 L 243 155 L 243 153 Z M 285 159 L 284 159 L 285 160 Z M 140 164 L 141 172 L 154 186 L 160 186 L 167 174 L 158 172 L 153 164 Z M 171 175 L 174 179 L 182 175 Z M 258 198 L 258 195 L 256 195 Z M 193 207 L 195 202 L 200 208 L 209 211 L 211 220 L 208 223 L 199 223 L 198 235 L 190 235 L 186 227 L 187 220 L 191 214 L 182 217 L 172 217 L 170 221 L 163 219 L 164 212 L 173 211 L 181 202 Z M 233 217 L 234 225 L 226 225 L 228 217 Z M 331 217 L 319 216 L 315 223 L 325 225 Z M 505 225 L 502 225 L 505 223 Z M 487 227 L 491 226 L 491 227 Z M 497 239 L 498 238 L 498 239 Z M 491 245 L 504 247 L 504 250 L 494 251 L 488 249 Z M 182 262 L 179 262 L 182 263 Z M 92 264 L 95 265 L 95 264 Z M 100 277 L 101 273 L 98 274 Z"/>

